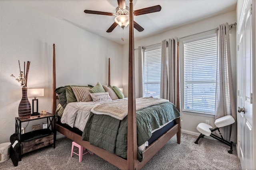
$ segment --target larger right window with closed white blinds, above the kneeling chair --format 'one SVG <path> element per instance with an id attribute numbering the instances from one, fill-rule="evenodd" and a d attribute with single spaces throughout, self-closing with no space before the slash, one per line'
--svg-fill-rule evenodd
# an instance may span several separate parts
<path id="1" fill-rule="evenodd" d="M 215 113 L 217 37 L 184 42 L 184 110 Z"/>

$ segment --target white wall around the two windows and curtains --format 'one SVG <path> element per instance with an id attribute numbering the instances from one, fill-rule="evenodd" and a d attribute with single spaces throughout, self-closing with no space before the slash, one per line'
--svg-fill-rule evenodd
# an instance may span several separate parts
<path id="1" fill-rule="evenodd" d="M 236 11 L 228 12 L 226 14 L 222 14 L 219 16 L 215 16 L 212 18 L 208 18 L 206 20 L 197 21 L 194 23 L 190 23 L 188 25 L 184 25 L 182 27 L 178 27 L 176 29 L 172 29 L 170 31 L 166 31 L 164 33 L 159 33 L 157 35 L 153 35 L 151 37 L 147 37 L 144 39 L 139 39 L 134 41 L 134 48 L 138 48 L 138 46 L 148 46 L 157 43 L 161 43 L 164 39 L 175 38 L 175 37 L 184 37 L 187 35 L 192 35 L 194 33 L 199 33 L 202 31 L 214 29 L 218 27 L 219 24 L 226 23 L 229 24 L 236 22 Z M 135 37 L 136 38 L 136 37 Z M 232 74 L 233 74 L 233 83 L 236 91 L 236 27 L 231 30 L 230 34 L 230 43 L 231 43 L 231 56 L 232 56 Z M 138 50 L 135 50 L 135 53 L 138 53 Z M 135 54 L 135 56 L 138 56 Z M 128 95 L 128 45 L 123 46 L 123 90 L 124 95 Z M 135 63 L 138 63 L 138 57 L 135 57 Z M 135 72 L 138 74 L 138 66 L 135 66 Z M 182 73 L 181 73 L 182 74 Z M 138 76 L 137 76 L 138 77 Z M 136 78 L 137 81 L 137 78 Z M 138 82 L 138 81 L 137 81 Z M 136 84 L 136 92 L 138 91 L 138 85 Z M 196 126 L 200 122 L 205 122 L 206 119 L 210 120 L 210 125 L 214 126 L 214 118 L 212 117 L 204 117 L 204 116 L 196 116 L 196 115 L 182 115 L 182 130 L 196 132 Z"/>

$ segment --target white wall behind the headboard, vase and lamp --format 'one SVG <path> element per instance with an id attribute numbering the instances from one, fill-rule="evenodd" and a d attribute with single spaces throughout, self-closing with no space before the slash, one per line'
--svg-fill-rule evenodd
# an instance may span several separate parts
<path id="1" fill-rule="evenodd" d="M 51 112 L 53 43 L 57 87 L 95 85 L 98 81 L 107 84 L 109 57 L 111 84 L 122 86 L 122 72 L 118 71 L 122 70 L 121 45 L 21 6 L 18 1 L 1 0 L 0 17 L 0 143 L 8 142 L 15 132 L 22 90 L 10 75 L 18 76 L 18 60 L 31 61 L 28 88 L 44 88 L 44 97 L 38 97 L 39 111 Z M 38 123 L 30 122 L 25 132 L 33 124 Z"/>

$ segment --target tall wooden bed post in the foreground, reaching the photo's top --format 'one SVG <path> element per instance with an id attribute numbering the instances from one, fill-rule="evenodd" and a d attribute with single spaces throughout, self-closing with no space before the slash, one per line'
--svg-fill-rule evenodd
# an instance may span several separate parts
<path id="1" fill-rule="evenodd" d="M 136 125 L 136 100 L 134 78 L 134 23 L 133 4 L 130 0 L 129 23 L 129 73 L 128 73 L 128 141 L 127 141 L 127 169 L 138 168 L 137 158 L 137 125 Z"/>

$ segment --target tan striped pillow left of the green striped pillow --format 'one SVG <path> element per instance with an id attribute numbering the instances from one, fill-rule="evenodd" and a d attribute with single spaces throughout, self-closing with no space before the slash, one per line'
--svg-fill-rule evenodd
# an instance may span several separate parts
<path id="1" fill-rule="evenodd" d="M 72 87 L 77 102 L 90 102 L 92 98 L 90 96 L 90 87 Z"/>

